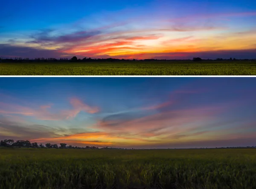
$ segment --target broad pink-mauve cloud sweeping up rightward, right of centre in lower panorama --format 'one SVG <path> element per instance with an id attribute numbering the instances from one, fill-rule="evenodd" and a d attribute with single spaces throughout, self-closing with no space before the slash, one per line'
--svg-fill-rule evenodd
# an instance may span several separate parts
<path id="1" fill-rule="evenodd" d="M 214 120 L 215 115 L 220 114 L 224 109 L 226 109 L 225 106 L 208 106 L 195 109 L 172 110 L 133 120 L 99 121 L 93 128 L 117 133 L 137 133 L 146 137 L 167 134 L 165 129 L 178 133 L 180 130 L 188 130 L 188 125 L 202 125 L 210 120 Z"/>

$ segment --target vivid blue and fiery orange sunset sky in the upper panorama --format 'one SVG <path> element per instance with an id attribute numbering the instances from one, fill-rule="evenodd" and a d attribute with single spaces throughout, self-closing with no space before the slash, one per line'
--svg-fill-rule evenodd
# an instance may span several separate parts
<path id="1" fill-rule="evenodd" d="M 256 58 L 255 0 L 9 0 L 0 57 Z"/>

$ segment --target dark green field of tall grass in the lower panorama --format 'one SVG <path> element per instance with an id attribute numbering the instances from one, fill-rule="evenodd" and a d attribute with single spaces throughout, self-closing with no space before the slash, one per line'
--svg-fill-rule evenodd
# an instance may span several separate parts
<path id="1" fill-rule="evenodd" d="M 255 189 L 256 149 L 0 149 L 1 189 Z"/>

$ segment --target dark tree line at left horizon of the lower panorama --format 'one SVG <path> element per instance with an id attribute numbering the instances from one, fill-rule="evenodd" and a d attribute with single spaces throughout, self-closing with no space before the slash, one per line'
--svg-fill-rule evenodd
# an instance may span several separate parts
<path id="1" fill-rule="evenodd" d="M 42 143 L 38 145 L 37 142 L 31 143 L 29 140 L 12 140 L 12 139 L 5 139 L 0 141 L 0 146 L 5 147 L 27 147 L 27 148 L 61 148 L 61 149 L 99 149 L 96 146 L 85 146 L 85 147 L 78 147 L 78 146 L 67 146 L 66 143 L 60 143 L 58 144 L 51 144 L 46 143 L 43 145 Z"/>

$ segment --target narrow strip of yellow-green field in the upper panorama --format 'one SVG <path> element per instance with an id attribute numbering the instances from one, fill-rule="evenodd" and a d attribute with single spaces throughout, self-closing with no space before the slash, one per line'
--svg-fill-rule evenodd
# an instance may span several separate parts
<path id="1" fill-rule="evenodd" d="M 0 75 L 256 75 L 256 61 L 0 63 Z"/>

